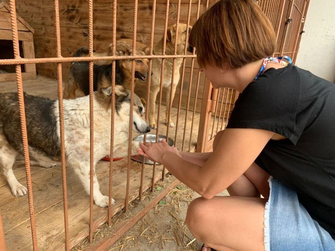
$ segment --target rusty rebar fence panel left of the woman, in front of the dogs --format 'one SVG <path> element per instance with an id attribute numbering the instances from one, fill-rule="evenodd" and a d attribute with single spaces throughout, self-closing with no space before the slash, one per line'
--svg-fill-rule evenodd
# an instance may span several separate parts
<path id="1" fill-rule="evenodd" d="M 200 14 L 200 3 L 205 3 L 206 8 L 208 7 L 208 0 L 206 2 L 197 1 L 197 18 Z M 187 29 L 186 29 L 186 41 L 188 41 L 188 32 L 189 32 L 189 25 L 190 25 L 190 15 L 191 15 L 191 4 L 192 0 L 189 0 L 189 7 L 188 7 L 188 15 L 187 15 Z M 60 144 L 61 144 L 61 171 L 62 171 L 62 193 L 63 193 L 63 213 L 64 213 L 64 228 L 65 228 L 65 250 L 69 250 L 73 245 L 76 243 L 70 244 L 70 237 L 69 237 L 69 222 L 68 222 L 68 195 L 67 195 L 67 183 L 66 183 L 66 160 L 65 160 L 65 140 L 64 140 L 64 108 L 63 108 L 63 80 L 62 80 L 62 63 L 64 62 L 75 62 L 75 61 L 88 61 L 89 62 L 89 107 L 90 107 L 90 199 L 89 199 L 89 241 L 91 242 L 93 239 L 93 231 L 98 227 L 97 224 L 93 221 L 93 173 L 94 173 L 94 166 L 93 166 L 93 139 L 94 139 L 94 128 L 93 128 L 93 62 L 98 60 L 112 60 L 112 95 L 111 95 L 111 103 L 112 103 L 112 111 L 115 109 L 115 60 L 118 59 L 131 59 L 132 60 L 132 79 L 131 79 L 131 101 L 130 103 L 133 104 L 134 100 L 134 72 L 135 72 L 135 60 L 141 58 L 148 58 L 149 59 L 149 72 L 151 72 L 152 67 L 152 59 L 160 58 L 162 59 L 161 63 L 161 81 L 160 81 L 160 90 L 162 90 L 163 86 L 163 78 L 164 75 L 164 61 L 166 59 L 173 58 L 173 71 L 175 68 L 175 61 L 176 58 L 183 58 L 183 65 L 182 65 L 182 74 L 181 74 L 181 86 L 180 90 L 183 89 L 183 82 L 184 82 L 184 73 L 185 73 L 185 64 L 186 59 L 191 58 L 191 74 L 189 80 L 189 89 L 188 89 L 188 99 L 187 99 L 187 108 L 186 108 L 186 116 L 184 122 L 184 133 L 183 133 L 183 142 L 182 142 L 182 150 L 185 149 L 185 138 L 186 136 L 186 123 L 188 120 L 188 110 L 190 107 L 190 92 L 191 92 L 191 83 L 193 77 L 193 68 L 194 68 L 194 60 L 195 60 L 195 52 L 192 55 L 187 55 L 187 43 L 185 43 L 185 49 L 183 55 L 177 55 L 177 36 L 178 36 L 178 23 L 179 23 L 179 15 L 180 15 L 180 5 L 181 0 L 178 0 L 177 4 L 177 21 L 176 21 L 176 39 L 175 39 L 175 51 L 174 55 L 166 55 L 165 54 L 165 47 L 166 47 L 166 31 L 167 31 L 167 16 L 169 13 L 169 0 L 166 1 L 166 12 L 165 12 L 165 26 L 164 26 L 164 43 L 163 43 L 163 50 L 162 55 L 153 55 L 153 35 L 154 35 L 154 27 L 155 27 L 155 9 L 156 9 L 156 0 L 152 1 L 152 18 L 151 18 L 151 39 L 150 39 L 150 55 L 142 56 L 142 55 L 135 55 L 136 49 L 136 27 L 137 27 L 137 9 L 138 9 L 138 0 L 134 0 L 134 16 L 133 16 L 133 38 L 132 38 L 132 52 L 133 55 L 131 56 L 117 56 L 116 55 L 116 13 L 117 13 L 117 1 L 113 1 L 113 48 L 112 48 L 112 56 L 104 56 L 104 57 L 95 57 L 93 56 L 93 1 L 88 0 L 88 13 L 89 13 L 89 22 L 88 22 L 88 38 L 89 38 L 89 56 L 88 57 L 62 57 L 61 55 L 61 39 L 60 39 L 60 17 L 59 17 L 59 0 L 54 1 L 54 15 L 55 15 L 55 31 L 56 31 L 56 44 L 57 44 L 57 56 L 54 58 L 21 58 L 19 54 L 19 42 L 18 42 L 18 29 L 17 29 L 17 17 L 16 17 L 16 10 L 15 10 L 15 0 L 9 0 L 10 6 L 10 21 L 11 21 L 11 31 L 12 31 L 12 38 L 13 38 L 13 48 L 14 48 L 14 59 L 3 59 L 0 60 L 0 65 L 15 65 L 15 72 L 16 72 L 16 82 L 17 82 L 17 92 L 18 92 L 18 103 L 19 103 L 19 110 L 20 110 L 20 121 L 21 121 L 21 133 L 22 133 L 22 144 L 24 149 L 24 163 L 25 163 L 25 173 L 26 173 L 26 181 L 27 181 L 27 190 L 28 190 L 28 206 L 29 206 L 29 214 L 30 214 L 30 227 L 31 227 L 31 236 L 32 236 L 32 247 L 36 251 L 38 250 L 38 240 L 37 240 L 37 230 L 36 230 L 36 219 L 35 219 L 35 212 L 34 212 L 34 199 L 32 193 L 32 181 L 31 181 L 31 172 L 30 172 L 30 162 L 29 162 L 29 151 L 28 151 L 28 139 L 27 139 L 27 129 L 26 129 L 26 119 L 25 119 L 25 107 L 24 107 L 24 98 L 23 98 L 23 85 L 22 85 L 22 73 L 21 73 L 21 65 L 22 64 L 37 64 L 37 63 L 57 63 L 57 82 L 58 82 L 58 100 L 59 100 L 59 123 L 60 123 Z M 174 75 L 172 74 L 172 82 L 173 82 Z M 197 83 L 196 83 L 196 98 L 194 102 L 194 109 L 193 109 L 193 117 L 192 117 L 192 126 L 191 126 L 191 133 L 190 133 L 190 143 L 189 143 L 189 150 L 191 148 L 191 139 L 193 133 L 193 123 L 194 123 L 194 114 L 195 114 L 195 107 L 196 107 L 196 100 L 198 96 L 198 87 L 199 87 L 199 80 L 200 80 L 200 71 L 198 71 L 197 75 Z M 149 95 L 150 95 L 150 81 L 151 76 L 148 76 L 148 87 L 147 87 L 147 103 L 149 102 Z M 172 88 L 171 88 L 172 90 Z M 161 100 L 162 100 L 162 91 L 159 92 L 159 103 L 158 103 L 158 115 L 157 115 L 157 130 L 156 130 L 156 140 L 158 138 L 159 132 L 159 120 L 160 120 L 160 112 L 161 112 Z M 182 103 L 182 95 L 180 95 L 178 101 L 178 112 L 177 112 L 177 124 L 176 124 L 176 136 L 175 136 L 175 146 L 177 145 L 177 133 L 179 125 L 183 123 L 182 118 L 180 117 L 181 111 L 181 103 Z M 170 105 L 169 108 L 169 118 L 171 116 L 171 108 L 172 108 L 172 91 L 170 92 Z M 133 124 L 133 106 L 130 106 L 130 120 L 129 125 L 132 128 Z M 145 115 L 146 119 L 148 119 L 148 113 Z M 111 225 L 111 219 L 113 216 L 112 213 L 112 182 L 113 182 L 113 132 L 114 132 L 114 112 L 112 112 L 111 118 L 111 151 L 110 151 L 110 174 L 109 174 L 109 208 L 108 208 L 108 215 L 107 215 L 107 222 L 108 225 Z M 169 137 L 169 126 L 167 126 L 166 130 L 166 137 Z M 145 138 L 144 138 L 145 140 Z M 127 166 L 127 183 L 126 183 L 126 199 L 124 207 L 127 210 L 130 199 L 129 199 L 129 185 L 130 185 L 130 162 L 131 162 L 131 141 L 132 141 L 132 131 L 129 130 L 129 147 L 128 147 L 128 166 Z M 151 188 L 154 188 L 154 177 L 155 177 L 155 164 L 153 166 L 153 173 L 152 173 L 152 185 Z M 165 168 L 163 168 L 162 172 L 162 179 L 164 180 Z M 144 161 L 141 167 L 141 182 L 139 187 L 139 196 L 140 200 L 143 198 L 143 176 L 144 176 Z M 175 180 L 171 185 L 176 186 L 178 184 L 178 180 Z M 162 197 L 162 195 L 160 195 Z M 160 198 L 161 198 L 160 197 Z M 159 199 L 157 197 L 156 199 Z M 156 199 L 153 202 L 158 202 Z M 150 203 L 147 205 L 146 209 L 141 212 L 140 215 L 143 214 L 150 208 L 152 208 L 155 204 Z M 116 241 L 117 236 L 124 233 L 127 228 L 129 229 L 136 221 L 136 217 L 134 217 L 130 222 L 128 222 L 125 226 L 126 228 L 119 229 L 115 238 L 111 240 Z M 3 238 L 3 230 L 2 230 L 1 218 L 0 218 L 0 249 L 4 250 L 4 238 Z M 103 245 L 112 245 L 111 240 L 106 242 Z"/>

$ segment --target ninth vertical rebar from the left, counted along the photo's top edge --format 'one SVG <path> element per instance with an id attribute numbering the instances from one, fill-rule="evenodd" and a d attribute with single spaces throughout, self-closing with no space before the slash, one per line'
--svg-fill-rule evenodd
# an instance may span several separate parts
<path id="1" fill-rule="evenodd" d="M 186 38 L 185 38 L 184 55 L 186 55 L 186 52 L 187 52 L 189 27 L 190 27 L 190 19 L 191 19 L 191 6 L 192 6 L 192 0 L 189 0 L 188 12 L 187 12 L 187 22 L 186 22 Z M 186 63 L 186 58 L 183 58 L 182 77 L 180 79 L 180 91 L 179 91 L 179 101 L 178 101 L 177 121 L 176 121 L 175 147 L 177 147 L 177 139 L 178 139 L 177 138 L 177 136 L 178 136 L 178 125 L 179 125 L 180 109 L 181 109 L 182 97 L 183 97 L 185 63 Z"/>

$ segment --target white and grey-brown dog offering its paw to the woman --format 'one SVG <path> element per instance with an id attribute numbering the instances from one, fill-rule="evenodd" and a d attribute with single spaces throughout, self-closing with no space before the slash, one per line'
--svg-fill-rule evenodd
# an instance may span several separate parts
<path id="1" fill-rule="evenodd" d="M 95 164 L 110 154 L 111 137 L 111 86 L 94 92 L 94 170 Z M 115 86 L 114 157 L 128 155 L 130 116 L 130 91 Z M 24 93 L 25 116 L 31 164 L 45 168 L 60 161 L 60 130 L 58 100 L 50 100 Z M 134 94 L 133 130 L 150 131 L 144 118 L 144 105 Z M 89 96 L 64 100 L 66 164 L 74 168 L 85 191 L 89 193 Z M 132 155 L 137 154 L 139 142 L 132 141 Z M 23 153 L 20 130 L 18 97 L 16 92 L 0 93 L 0 166 L 14 196 L 23 196 L 27 189 L 14 176 L 12 166 L 18 153 Z M 99 189 L 94 171 L 93 199 L 95 204 L 106 207 L 109 198 Z M 112 199 L 113 204 L 115 203 Z"/>

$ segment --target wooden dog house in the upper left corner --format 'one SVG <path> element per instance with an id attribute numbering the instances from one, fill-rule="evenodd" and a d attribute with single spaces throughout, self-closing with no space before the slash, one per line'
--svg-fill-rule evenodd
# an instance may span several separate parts
<path id="1" fill-rule="evenodd" d="M 20 45 L 20 56 L 23 58 L 35 58 L 34 29 L 17 15 L 17 29 Z M 0 59 L 14 58 L 12 31 L 10 24 L 9 5 L 0 2 Z M 35 64 L 22 65 L 22 79 L 36 78 Z M 0 81 L 16 80 L 15 65 L 2 65 L 0 67 Z"/>

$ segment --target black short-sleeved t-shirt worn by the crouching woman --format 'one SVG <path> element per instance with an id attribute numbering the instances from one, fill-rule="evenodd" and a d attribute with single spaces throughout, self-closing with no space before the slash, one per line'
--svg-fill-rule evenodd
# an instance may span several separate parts
<path id="1" fill-rule="evenodd" d="M 269 68 L 240 94 L 227 128 L 286 137 L 270 140 L 255 162 L 335 239 L 335 84 L 292 65 Z"/>

